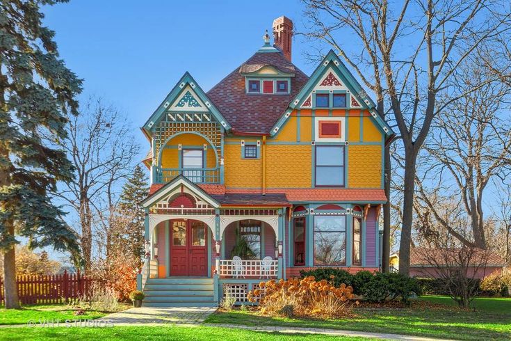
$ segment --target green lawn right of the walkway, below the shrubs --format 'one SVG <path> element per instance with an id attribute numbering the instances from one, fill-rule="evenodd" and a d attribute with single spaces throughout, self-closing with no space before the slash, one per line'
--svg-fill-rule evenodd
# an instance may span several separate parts
<path id="1" fill-rule="evenodd" d="M 448 300 L 434 296 L 414 303 L 411 308 L 355 308 L 356 316 L 346 319 L 289 319 L 232 311 L 217 312 L 205 322 L 331 328 L 458 340 L 510 340 L 511 299 L 478 299 L 476 307 L 479 308 L 475 311 L 460 310 Z"/>

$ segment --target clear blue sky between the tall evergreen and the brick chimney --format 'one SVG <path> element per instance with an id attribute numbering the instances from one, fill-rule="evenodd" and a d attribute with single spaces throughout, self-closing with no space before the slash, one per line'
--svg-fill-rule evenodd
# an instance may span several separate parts
<path id="1" fill-rule="evenodd" d="M 190 72 L 204 90 L 263 45 L 273 19 L 302 26 L 301 4 L 289 1 L 74 0 L 44 8 L 60 56 L 84 79 L 82 99 L 99 95 L 127 114 L 139 131 L 163 98 Z M 307 74 L 306 44 L 293 41 L 293 62 Z"/>

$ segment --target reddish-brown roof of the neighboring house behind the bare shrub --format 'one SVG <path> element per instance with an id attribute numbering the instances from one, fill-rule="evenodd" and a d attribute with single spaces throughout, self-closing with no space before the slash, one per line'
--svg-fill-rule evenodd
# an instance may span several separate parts
<path id="1" fill-rule="evenodd" d="M 455 251 L 455 249 L 451 249 Z M 432 267 L 435 265 L 444 266 L 446 264 L 446 255 L 439 248 L 411 248 L 410 249 L 410 267 Z M 505 267 L 506 262 L 500 255 L 481 249 L 476 249 L 474 255 L 471 257 L 474 267 L 480 267 L 486 262 L 486 267 Z"/>

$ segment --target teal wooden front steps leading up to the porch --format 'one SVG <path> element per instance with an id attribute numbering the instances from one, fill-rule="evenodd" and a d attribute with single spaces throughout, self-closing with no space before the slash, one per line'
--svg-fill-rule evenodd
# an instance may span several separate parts
<path id="1" fill-rule="evenodd" d="M 148 278 L 143 307 L 216 307 L 213 278 Z"/>

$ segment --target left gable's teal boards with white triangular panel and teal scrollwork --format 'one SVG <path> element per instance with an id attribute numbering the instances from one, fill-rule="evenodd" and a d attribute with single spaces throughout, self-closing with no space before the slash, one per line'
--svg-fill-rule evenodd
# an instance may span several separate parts
<path id="1" fill-rule="evenodd" d="M 182 101 L 182 102 L 181 102 Z M 171 105 L 172 103 L 172 105 Z M 197 106 L 199 105 L 199 106 Z M 222 116 L 220 111 L 213 105 L 204 90 L 197 84 L 190 73 L 185 72 L 183 77 L 179 79 L 176 86 L 170 90 L 170 93 L 161 102 L 154 113 L 149 117 L 142 129 L 148 136 L 152 136 L 151 128 L 164 115 L 168 113 L 169 106 L 175 111 L 210 111 L 218 122 L 227 130 L 232 129 L 229 122 Z"/>

